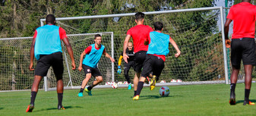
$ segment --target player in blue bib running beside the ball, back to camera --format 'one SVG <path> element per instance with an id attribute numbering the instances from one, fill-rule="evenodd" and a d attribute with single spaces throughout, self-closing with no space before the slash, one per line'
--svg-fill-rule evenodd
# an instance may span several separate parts
<path id="1" fill-rule="evenodd" d="M 160 74 L 163 71 L 164 62 L 166 61 L 166 55 L 169 53 L 169 43 L 172 43 L 177 51 L 175 54 L 176 58 L 181 54 L 175 41 L 169 35 L 162 33 L 163 24 L 161 22 L 154 23 L 153 27 L 155 31 L 151 32 L 150 38 L 145 41 L 145 44 L 149 43 L 147 58 L 144 61 L 141 78 L 137 85 L 136 96 L 134 96 L 133 100 L 139 99 L 146 77 L 150 75 L 151 71 L 153 72 L 153 83 L 159 80 Z M 154 86 L 151 87 L 154 88 Z"/>

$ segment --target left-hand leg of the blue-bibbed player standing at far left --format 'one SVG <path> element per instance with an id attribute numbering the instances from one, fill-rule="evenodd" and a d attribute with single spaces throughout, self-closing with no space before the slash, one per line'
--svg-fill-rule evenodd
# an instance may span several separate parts
<path id="1" fill-rule="evenodd" d="M 36 94 L 38 92 L 38 86 L 40 85 L 40 81 L 44 76 L 46 76 L 49 67 L 51 66 L 49 63 L 49 55 L 40 55 L 40 59 L 37 61 L 35 76 L 33 80 L 33 85 L 31 88 L 31 96 L 30 96 L 30 105 L 28 105 L 26 112 L 32 112 L 34 105 Z"/>

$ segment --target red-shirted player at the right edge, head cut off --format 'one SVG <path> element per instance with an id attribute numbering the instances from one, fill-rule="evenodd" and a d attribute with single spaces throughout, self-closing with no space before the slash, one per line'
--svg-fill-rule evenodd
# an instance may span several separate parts
<path id="1" fill-rule="evenodd" d="M 235 84 L 240 71 L 241 60 L 245 67 L 245 101 L 244 105 L 254 105 L 249 101 L 251 91 L 251 72 L 255 65 L 255 19 L 256 6 L 250 4 L 251 0 L 242 0 L 233 5 L 226 17 L 224 26 L 226 48 L 231 46 L 232 74 L 230 77 L 229 104 L 235 105 Z M 233 20 L 232 42 L 229 40 L 229 24 Z M 231 43 L 231 45 L 230 45 Z"/>

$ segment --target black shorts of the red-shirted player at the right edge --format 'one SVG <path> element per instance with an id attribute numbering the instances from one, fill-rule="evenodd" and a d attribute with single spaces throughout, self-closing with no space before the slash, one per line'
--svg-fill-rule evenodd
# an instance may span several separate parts
<path id="1" fill-rule="evenodd" d="M 255 65 L 255 40 L 253 38 L 232 39 L 231 63 L 232 66 L 240 68 L 241 59 L 243 64 Z"/>

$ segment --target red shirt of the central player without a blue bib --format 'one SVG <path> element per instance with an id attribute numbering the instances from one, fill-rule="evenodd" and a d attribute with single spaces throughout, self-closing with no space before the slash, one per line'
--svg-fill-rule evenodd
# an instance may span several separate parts
<path id="1" fill-rule="evenodd" d="M 151 31 L 153 31 L 153 29 L 150 26 L 143 24 L 131 27 L 131 29 L 127 31 L 127 35 L 131 35 L 134 42 L 134 53 L 147 51 L 148 45 L 144 45 L 144 40 L 149 37 Z"/>

